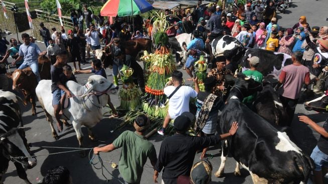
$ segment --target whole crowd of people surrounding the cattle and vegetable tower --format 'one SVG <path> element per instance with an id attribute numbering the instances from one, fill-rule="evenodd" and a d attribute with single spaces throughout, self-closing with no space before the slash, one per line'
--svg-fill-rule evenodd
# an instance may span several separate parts
<path id="1" fill-rule="evenodd" d="M 168 37 L 175 37 L 182 33 L 193 35 L 190 44 L 183 45 L 183 47 L 189 51 L 184 66 L 190 80 L 194 82 L 195 89 L 182 85 L 183 75 L 180 71 L 172 73 L 172 81 L 168 82 L 164 88 L 164 94 L 169 99 L 169 108 L 163 127 L 158 133 L 165 135 L 167 126 L 173 121 L 176 134 L 162 142 L 159 155 L 156 156 L 154 145 L 144 138 L 145 130 L 149 126 L 149 119 L 146 116 L 139 116 L 134 122 L 135 132 L 123 132 L 112 144 L 95 147 L 94 153 L 110 152 L 122 147 L 119 170 L 126 183 L 140 183 L 147 158 L 154 166 L 154 182 L 157 182 L 158 173 L 164 168 L 162 174 L 164 183 L 184 183 L 182 176 L 190 174 L 196 151 L 202 150 L 200 159 L 205 158 L 208 146 L 233 136 L 238 129 L 238 123 L 234 122 L 229 133 L 215 135 L 217 112 L 225 106 L 225 103 L 220 100 L 222 94 L 226 92 L 224 76 L 232 74 L 238 68 L 236 63 L 232 62 L 233 53 L 226 50 L 223 57 L 215 59 L 213 62 L 215 67 L 208 72 L 204 80 L 205 91 L 199 91 L 197 78 L 194 77 L 194 62 L 199 59 L 203 51 L 211 52 L 209 43 L 220 35 L 237 38 L 245 48 L 258 48 L 291 55 L 293 64 L 283 68 L 276 86 L 277 90 L 282 86 L 280 101 L 289 115 L 288 125 L 290 126 L 301 88 L 306 86 L 308 91 L 316 94 L 321 94 L 326 90 L 328 27 L 323 25 L 311 25 L 312 27 L 310 27 L 306 17 L 301 16 L 298 21 L 295 20 L 297 23 L 290 25 L 290 28 L 282 28 L 278 25 L 274 4 L 274 1 L 266 1 L 266 4 L 258 1 L 256 4 L 244 5 L 235 1 L 232 11 L 226 12 L 215 2 L 206 6 L 198 1 L 197 6 L 193 9 L 174 12 L 165 10 L 166 21 L 169 23 L 166 32 Z M 19 69 L 30 66 L 37 81 L 40 80 L 38 56 L 46 55 L 51 61 L 53 106 L 59 133 L 63 131 L 63 124 L 60 121 L 62 98 L 64 94 L 71 97 L 65 83 L 68 80 L 76 81 L 72 74 L 73 69 L 66 65 L 66 61 L 73 62 L 76 69 L 78 66 L 78 69 L 74 70 L 75 74 L 94 73 L 106 78 L 101 61 L 90 54 L 93 52 L 94 55 L 95 50 L 100 49 L 101 42 L 103 42 L 110 47 L 113 58 L 114 83 L 118 84 L 119 70 L 123 64 L 130 66 L 131 63 L 135 63 L 134 58 L 125 54 L 121 43 L 139 38 L 153 39 L 156 32 L 153 29 L 152 20 L 144 20 L 144 27 L 141 27 L 143 21 L 139 17 L 135 25 L 124 22 L 121 18 L 117 18 L 116 22 L 110 25 L 103 17 L 94 16 L 85 5 L 82 11 L 72 10 L 71 19 L 74 29 L 68 30 L 67 34 L 63 27 L 60 31 L 52 28 L 52 33 L 50 33 L 43 23 L 40 24 L 40 36 L 47 47 L 43 52 L 34 43 L 33 37 L 26 33 L 22 34 L 23 44 L 15 38 L 7 41 L 5 37 L 0 37 L 0 81 L 3 90 L 8 90 L 8 79 L 5 75 L 7 70 L 4 67 L 4 64 L 8 64 L 8 57 L 11 56 L 15 59 L 12 64 Z M 11 47 L 8 49 L 7 45 L 11 45 Z M 88 63 L 87 60 L 91 57 L 93 57 L 92 69 L 83 70 L 81 64 Z M 77 66 L 76 61 L 78 62 Z M 260 59 L 254 56 L 248 61 L 250 69 L 243 73 L 262 82 L 264 76 L 257 70 Z M 182 65 L 179 57 L 176 57 L 176 62 L 177 65 Z M 143 84 L 140 81 L 139 85 L 143 88 L 144 81 Z M 176 93 L 178 90 L 179 93 Z M 185 113 L 189 112 L 190 98 L 197 98 L 195 126 L 198 128 L 199 137 L 190 137 L 184 134 L 190 129 L 193 122 L 193 115 Z M 255 99 L 256 94 L 253 94 L 244 98 L 243 103 L 253 109 L 252 104 Z M 117 117 L 118 114 L 110 99 L 108 105 L 113 110 L 112 116 Z M 321 166 L 328 165 L 328 123 L 326 121 L 324 127 L 321 128 L 305 116 L 300 116 L 299 119 L 314 127 L 321 134 L 320 144 L 318 143 L 313 150 L 311 158 L 316 166 L 313 171 L 314 181 L 322 183 L 322 180 L 319 179 L 322 178 L 322 174 L 324 175 Z M 57 167 L 49 171 L 43 183 L 54 183 L 52 180 L 61 177 L 65 179 L 58 180 L 56 183 L 72 182 L 67 168 Z"/>

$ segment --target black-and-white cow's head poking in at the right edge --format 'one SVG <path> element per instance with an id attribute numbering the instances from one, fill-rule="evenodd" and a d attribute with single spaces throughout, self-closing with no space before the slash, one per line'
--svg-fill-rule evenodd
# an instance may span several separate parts
<path id="1" fill-rule="evenodd" d="M 328 112 L 328 90 L 321 97 L 305 102 L 304 106 L 308 111 Z"/>

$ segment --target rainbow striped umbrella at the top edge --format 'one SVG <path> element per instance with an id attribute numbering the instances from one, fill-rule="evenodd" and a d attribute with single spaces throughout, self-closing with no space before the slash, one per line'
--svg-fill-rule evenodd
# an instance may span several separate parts
<path id="1" fill-rule="evenodd" d="M 139 15 L 153 10 L 145 0 L 108 0 L 101 8 L 100 15 L 107 17 L 125 17 Z"/>

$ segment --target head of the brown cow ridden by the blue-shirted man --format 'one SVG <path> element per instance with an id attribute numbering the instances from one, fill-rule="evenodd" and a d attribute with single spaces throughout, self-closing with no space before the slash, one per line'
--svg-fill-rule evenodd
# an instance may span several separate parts
<path id="1" fill-rule="evenodd" d="M 31 69 L 21 70 L 17 69 L 12 74 L 13 90 L 26 89 L 36 86 L 36 76 Z"/>

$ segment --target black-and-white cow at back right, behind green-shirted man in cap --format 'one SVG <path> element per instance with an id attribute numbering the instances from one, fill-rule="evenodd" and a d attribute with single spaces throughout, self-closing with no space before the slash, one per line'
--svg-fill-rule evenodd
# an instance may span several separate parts
<path id="1" fill-rule="evenodd" d="M 279 78 L 280 72 L 284 66 L 292 64 L 291 56 L 285 53 L 272 52 L 263 49 L 248 49 L 245 56 L 239 60 L 239 64 L 243 67 L 243 71 L 250 68 L 248 58 L 257 56 L 260 63 L 256 68 L 264 76 L 273 75 L 275 79 Z"/>

